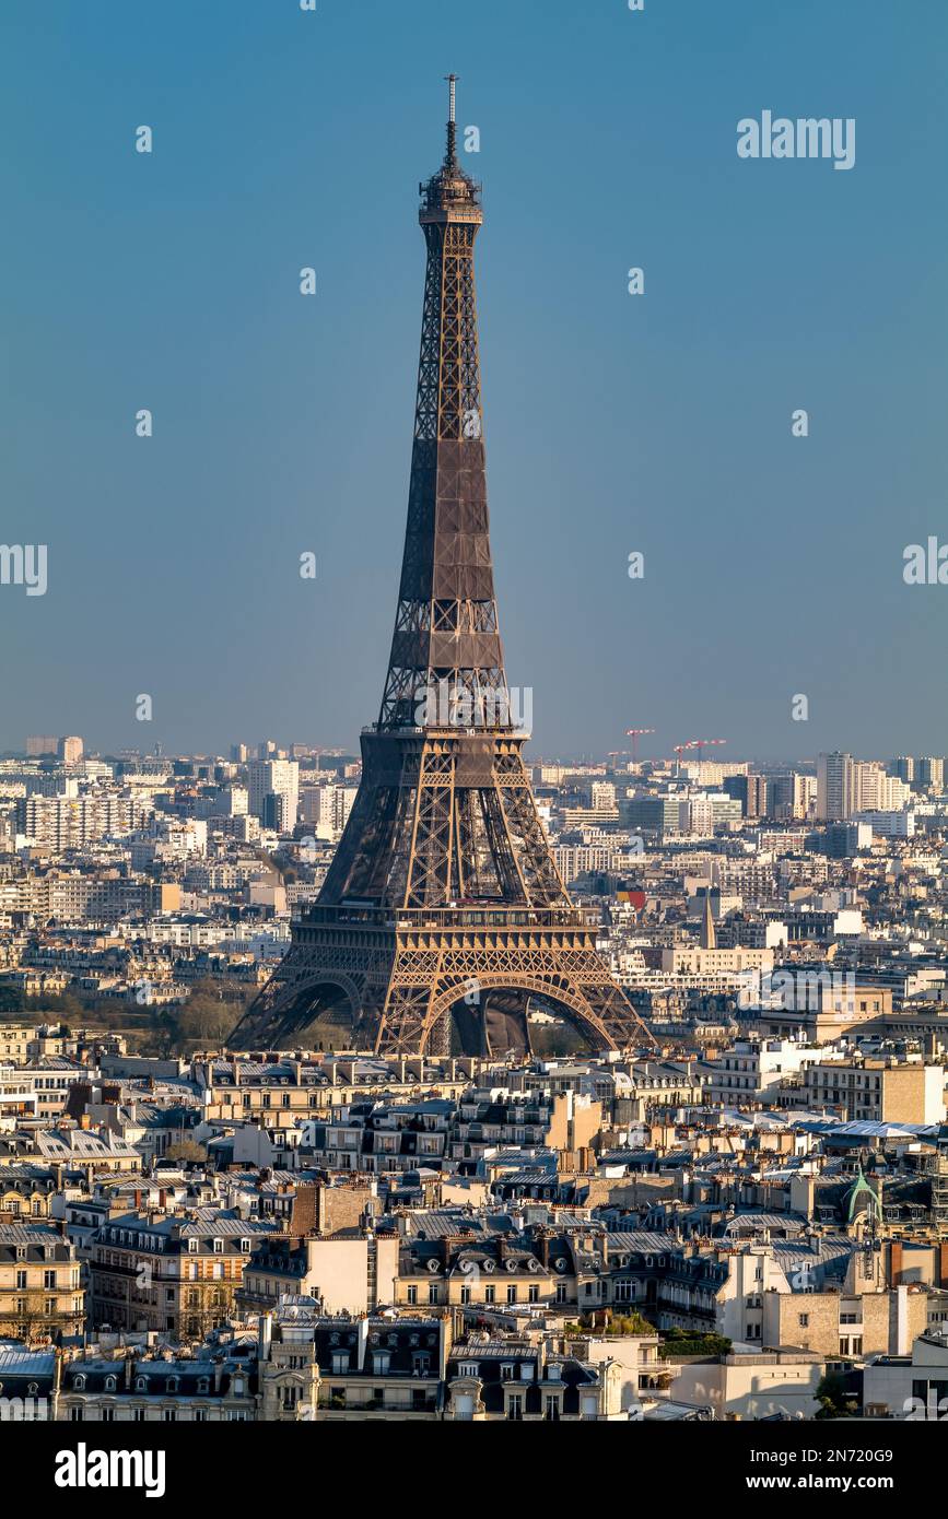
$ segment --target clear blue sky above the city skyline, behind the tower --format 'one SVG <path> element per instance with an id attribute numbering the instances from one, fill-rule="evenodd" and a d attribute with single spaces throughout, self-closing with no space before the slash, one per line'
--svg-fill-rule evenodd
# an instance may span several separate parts
<path id="1" fill-rule="evenodd" d="M 6 0 L 0 538 L 49 585 L 0 585 L 0 749 L 374 720 L 454 70 L 533 752 L 946 752 L 948 585 L 902 580 L 948 542 L 946 44 L 945 0 Z M 855 166 L 740 159 L 763 111 Z"/>

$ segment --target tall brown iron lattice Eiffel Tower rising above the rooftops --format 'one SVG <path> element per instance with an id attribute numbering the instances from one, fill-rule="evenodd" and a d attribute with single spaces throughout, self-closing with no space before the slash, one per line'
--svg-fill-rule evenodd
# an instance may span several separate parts
<path id="1" fill-rule="evenodd" d="M 550 852 L 512 711 L 488 532 L 474 238 L 454 82 L 445 158 L 419 185 L 427 245 L 398 611 L 362 784 L 318 901 L 229 1044 L 305 1044 L 342 1022 L 357 1047 L 529 1051 L 530 1009 L 592 1050 L 653 1044 L 596 949 Z"/>

